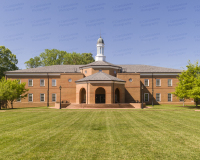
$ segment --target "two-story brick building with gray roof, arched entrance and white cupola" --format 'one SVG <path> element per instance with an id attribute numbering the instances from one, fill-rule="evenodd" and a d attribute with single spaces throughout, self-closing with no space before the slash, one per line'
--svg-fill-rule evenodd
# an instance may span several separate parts
<path id="1" fill-rule="evenodd" d="M 29 88 L 28 97 L 14 107 L 54 106 L 70 103 L 182 103 L 171 92 L 178 82 L 178 69 L 148 65 L 114 65 L 105 61 L 104 41 L 97 41 L 95 62 L 87 65 L 53 65 L 6 72 Z M 186 103 L 191 103 L 187 101 Z"/>

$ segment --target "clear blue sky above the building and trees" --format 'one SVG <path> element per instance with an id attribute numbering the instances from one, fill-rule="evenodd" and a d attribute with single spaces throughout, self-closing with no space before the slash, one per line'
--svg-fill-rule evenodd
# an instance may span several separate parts
<path id="1" fill-rule="evenodd" d="M 45 49 L 96 55 L 100 35 L 106 60 L 181 69 L 200 57 L 199 0 L 1 0 L 0 45 L 18 67 Z"/>

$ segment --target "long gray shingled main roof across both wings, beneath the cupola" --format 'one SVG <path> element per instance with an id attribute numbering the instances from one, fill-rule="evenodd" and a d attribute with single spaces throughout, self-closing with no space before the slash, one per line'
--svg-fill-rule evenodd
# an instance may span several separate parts
<path id="1" fill-rule="evenodd" d="M 96 61 L 90 63 L 91 66 L 99 66 L 99 65 L 107 65 L 111 66 L 113 64 L 104 62 L 104 61 Z M 89 65 L 89 64 L 88 64 Z M 7 73 L 74 73 L 75 71 L 80 73 L 79 67 L 84 67 L 88 65 L 53 65 L 53 66 L 46 66 L 46 67 L 38 67 L 38 68 L 29 68 L 23 70 L 15 70 L 15 71 L 7 71 Z M 116 66 L 116 65 L 115 65 Z M 154 73 L 162 73 L 162 72 L 182 72 L 180 69 L 172 69 L 172 68 L 164 68 L 164 67 L 156 67 L 156 66 L 149 66 L 149 65 L 118 65 L 118 67 L 122 67 L 123 70 L 126 72 L 154 72 Z"/>

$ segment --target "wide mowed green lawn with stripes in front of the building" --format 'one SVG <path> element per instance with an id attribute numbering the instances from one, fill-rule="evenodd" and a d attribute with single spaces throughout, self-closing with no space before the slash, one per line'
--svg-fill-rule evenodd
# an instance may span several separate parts
<path id="1" fill-rule="evenodd" d="M 0 159 L 199 159 L 194 108 L 0 110 Z"/>

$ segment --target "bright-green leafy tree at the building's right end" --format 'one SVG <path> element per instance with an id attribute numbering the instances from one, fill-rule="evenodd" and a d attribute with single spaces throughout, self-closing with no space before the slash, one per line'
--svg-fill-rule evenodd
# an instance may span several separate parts
<path id="1" fill-rule="evenodd" d="M 198 62 L 192 64 L 189 61 L 186 67 L 187 70 L 179 75 L 179 83 L 172 94 L 184 99 L 184 101 L 193 98 L 197 107 L 198 99 L 200 99 L 200 66 Z"/>

